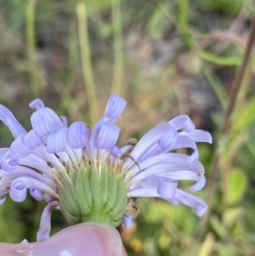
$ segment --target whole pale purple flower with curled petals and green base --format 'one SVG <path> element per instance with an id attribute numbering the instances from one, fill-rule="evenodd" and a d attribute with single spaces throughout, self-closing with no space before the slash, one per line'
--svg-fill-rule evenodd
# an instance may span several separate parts
<path id="1" fill-rule="evenodd" d="M 0 105 L 0 119 L 14 135 L 9 148 L 0 149 L 0 196 L 9 193 L 22 202 L 29 189 L 37 201 L 45 200 L 37 240 L 49 236 L 54 208 L 68 223 L 102 221 L 132 225 L 136 215 L 131 197 L 161 197 L 177 205 L 195 208 L 198 216 L 207 210 L 201 198 L 178 189 L 178 180 L 194 180 L 192 191 L 206 183 L 198 161 L 196 142 L 212 143 L 209 133 L 195 129 L 187 116 L 173 118 L 152 128 L 134 145 L 131 139 L 119 148 L 120 128 L 115 124 L 126 100 L 112 94 L 105 116 L 90 130 L 85 122 L 67 126 L 42 100 L 31 108 L 31 130 L 23 128 L 6 107 Z M 190 156 L 173 152 L 190 148 Z M 0 199 L 0 204 L 5 200 Z"/>

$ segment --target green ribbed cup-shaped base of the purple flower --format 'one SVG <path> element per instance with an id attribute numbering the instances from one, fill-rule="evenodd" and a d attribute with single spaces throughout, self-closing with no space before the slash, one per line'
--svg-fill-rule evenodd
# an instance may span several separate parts
<path id="1" fill-rule="evenodd" d="M 69 225 L 95 221 L 117 226 L 127 207 L 127 184 L 123 174 L 104 166 L 99 170 L 84 165 L 71 172 L 58 186 L 59 205 Z"/>

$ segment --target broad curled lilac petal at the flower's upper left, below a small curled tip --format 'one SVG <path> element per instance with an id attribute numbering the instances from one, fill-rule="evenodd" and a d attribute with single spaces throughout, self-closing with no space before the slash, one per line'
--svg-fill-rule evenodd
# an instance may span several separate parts
<path id="1" fill-rule="evenodd" d="M 54 130 L 64 128 L 65 123 L 50 108 L 43 107 L 31 115 L 31 126 L 35 133 L 42 137 L 50 134 Z"/>

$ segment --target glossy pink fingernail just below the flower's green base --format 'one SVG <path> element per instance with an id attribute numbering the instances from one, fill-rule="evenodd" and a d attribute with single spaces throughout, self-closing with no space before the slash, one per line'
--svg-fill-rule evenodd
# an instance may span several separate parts
<path id="1" fill-rule="evenodd" d="M 99 223 L 73 225 L 61 230 L 32 247 L 29 253 L 33 256 L 127 256 L 117 230 Z"/>

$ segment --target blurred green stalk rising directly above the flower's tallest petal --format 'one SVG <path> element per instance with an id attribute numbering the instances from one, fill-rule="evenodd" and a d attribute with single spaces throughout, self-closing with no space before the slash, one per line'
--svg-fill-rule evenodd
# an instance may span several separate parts
<path id="1" fill-rule="evenodd" d="M 121 0 L 111 0 L 111 13 L 114 38 L 114 66 L 111 92 L 121 94 L 123 72 Z"/>

